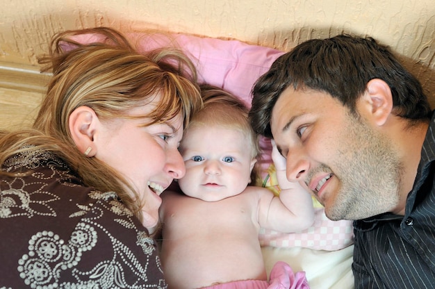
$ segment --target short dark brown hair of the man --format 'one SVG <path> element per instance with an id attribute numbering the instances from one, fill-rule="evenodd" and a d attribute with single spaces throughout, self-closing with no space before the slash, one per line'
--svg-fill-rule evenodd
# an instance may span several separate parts
<path id="1" fill-rule="evenodd" d="M 271 138 L 272 108 L 290 85 L 327 92 L 356 113 L 356 100 L 371 79 L 389 85 L 395 115 L 407 119 L 429 117 L 429 101 L 420 82 L 388 47 L 373 38 L 338 35 L 308 40 L 277 58 L 254 85 L 250 122 L 256 133 Z"/>

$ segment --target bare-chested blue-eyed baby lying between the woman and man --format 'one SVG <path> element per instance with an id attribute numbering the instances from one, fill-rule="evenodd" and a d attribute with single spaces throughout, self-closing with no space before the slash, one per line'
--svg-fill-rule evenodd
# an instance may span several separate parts
<path id="1" fill-rule="evenodd" d="M 255 183 L 258 139 L 247 108 L 217 88 L 204 86 L 202 94 L 204 109 L 186 128 L 179 148 L 186 164 L 178 181 L 183 193 L 162 195 L 161 260 L 169 287 L 308 288 L 304 273 L 294 276 L 286 263 L 277 263 L 267 281 L 258 230 L 308 228 L 314 220 L 311 195 L 286 180 L 285 159 L 276 147 L 279 197 L 249 185 Z"/>

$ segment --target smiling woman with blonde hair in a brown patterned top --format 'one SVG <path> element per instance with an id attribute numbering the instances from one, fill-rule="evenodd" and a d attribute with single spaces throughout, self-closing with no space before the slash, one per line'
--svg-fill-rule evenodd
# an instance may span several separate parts
<path id="1" fill-rule="evenodd" d="M 185 173 L 195 67 L 110 28 L 60 33 L 40 63 L 53 77 L 33 128 L 0 134 L 0 287 L 165 288 L 148 229 Z"/>

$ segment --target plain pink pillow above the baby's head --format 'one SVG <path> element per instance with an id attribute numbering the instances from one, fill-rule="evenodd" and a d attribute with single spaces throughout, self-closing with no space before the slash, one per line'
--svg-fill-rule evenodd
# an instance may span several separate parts
<path id="1" fill-rule="evenodd" d="M 238 40 L 200 38 L 184 34 L 131 33 L 140 51 L 156 47 L 176 45 L 187 53 L 197 65 L 200 83 L 220 87 L 242 99 L 251 107 L 251 90 L 259 76 L 268 71 L 270 65 L 284 52 L 268 47 L 246 44 Z M 95 38 L 94 38 L 95 40 Z M 264 154 L 262 167 L 272 163 L 270 140 L 261 138 L 260 147 Z"/>

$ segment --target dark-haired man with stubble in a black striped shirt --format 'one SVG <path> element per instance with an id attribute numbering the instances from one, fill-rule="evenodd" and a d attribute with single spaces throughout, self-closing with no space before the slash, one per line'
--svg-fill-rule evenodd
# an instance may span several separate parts
<path id="1" fill-rule="evenodd" d="M 433 288 L 435 122 L 393 53 L 372 38 L 309 40 L 253 95 L 252 126 L 274 139 L 288 180 L 331 220 L 355 220 L 355 287 Z"/>

